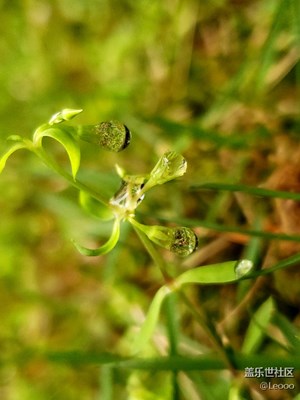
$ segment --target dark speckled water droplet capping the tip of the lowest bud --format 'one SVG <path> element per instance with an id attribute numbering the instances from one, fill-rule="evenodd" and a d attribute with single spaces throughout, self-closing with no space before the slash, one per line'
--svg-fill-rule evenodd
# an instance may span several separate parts
<path id="1" fill-rule="evenodd" d="M 173 241 L 170 250 L 179 256 L 186 257 L 193 253 L 198 246 L 198 238 L 192 229 L 174 228 Z"/>

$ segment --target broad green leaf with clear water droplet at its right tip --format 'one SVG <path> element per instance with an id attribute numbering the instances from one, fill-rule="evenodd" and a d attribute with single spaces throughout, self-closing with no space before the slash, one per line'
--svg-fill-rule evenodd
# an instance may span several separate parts
<path id="1" fill-rule="evenodd" d="M 250 273 L 252 267 L 250 260 L 205 265 L 183 272 L 174 280 L 174 285 L 180 287 L 188 283 L 209 285 L 235 282 Z"/>

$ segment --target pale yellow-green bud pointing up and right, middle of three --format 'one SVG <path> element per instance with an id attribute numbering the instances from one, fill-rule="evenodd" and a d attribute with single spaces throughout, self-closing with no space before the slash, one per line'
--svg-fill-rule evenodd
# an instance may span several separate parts
<path id="1" fill-rule="evenodd" d="M 150 178 L 146 183 L 147 190 L 155 185 L 162 185 L 185 174 L 187 162 L 185 158 L 176 153 L 169 151 L 165 153 L 155 165 L 150 173 Z"/>

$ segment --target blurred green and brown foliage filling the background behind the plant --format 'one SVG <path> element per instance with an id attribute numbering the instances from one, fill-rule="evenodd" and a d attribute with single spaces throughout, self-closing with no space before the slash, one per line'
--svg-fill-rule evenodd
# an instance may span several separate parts
<path id="1" fill-rule="evenodd" d="M 87 143 L 78 176 L 109 199 L 119 186 L 116 163 L 144 174 L 165 151 L 184 154 L 185 178 L 149 193 L 139 215 L 196 229 L 199 251 L 187 261 L 162 250 L 171 276 L 239 258 L 258 267 L 290 260 L 299 242 L 255 232 L 299 235 L 295 200 L 190 186 L 241 182 L 299 192 L 299 8 L 297 0 L 0 0 L 0 150 L 7 136 L 31 137 L 63 108 L 84 109 L 80 124 L 120 120 L 133 133 L 130 147 L 104 154 Z M 67 165 L 64 151 L 49 145 Z M 228 343 L 228 353 L 239 353 L 246 337 L 244 346 L 277 357 L 277 366 L 297 359 L 294 262 L 262 281 L 249 310 L 239 304 L 255 281 L 187 289 L 184 301 L 165 304 L 142 354 L 174 357 L 165 370 L 138 361 L 131 369 L 123 358 L 117 368 L 109 357 L 131 354 L 136 326 L 165 284 L 149 254 L 125 225 L 109 255 L 78 255 L 70 239 L 89 237 L 96 247 L 111 222 L 85 214 L 75 190 L 22 150 L 1 174 L 0 193 L 1 399 L 261 398 L 254 378 L 242 385 L 242 371 L 233 377 L 210 356 L 226 355 Z M 272 309 L 262 313 L 263 304 Z M 207 358 L 190 371 L 196 361 L 177 360 L 178 353 Z M 185 372 L 169 372 L 176 365 Z M 297 379 L 286 383 L 295 390 L 276 393 L 293 398 Z"/>

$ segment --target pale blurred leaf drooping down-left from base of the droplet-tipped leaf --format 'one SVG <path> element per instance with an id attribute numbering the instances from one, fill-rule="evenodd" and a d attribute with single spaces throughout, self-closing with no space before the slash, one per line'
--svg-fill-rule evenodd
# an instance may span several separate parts
<path id="1" fill-rule="evenodd" d="M 150 340 L 158 321 L 162 303 L 169 293 L 171 293 L 170 288 L 168 288 L 167 286 L 162 286 L 155 294 L 152 303 L 150 305 L 149 311 L 147 313 L 145 322 L 141 327 L 137 339 L 133 343 L 132 346 L 133 354 L 141 351 L 143 347 L 147 344 L 147 342 Z"/>

